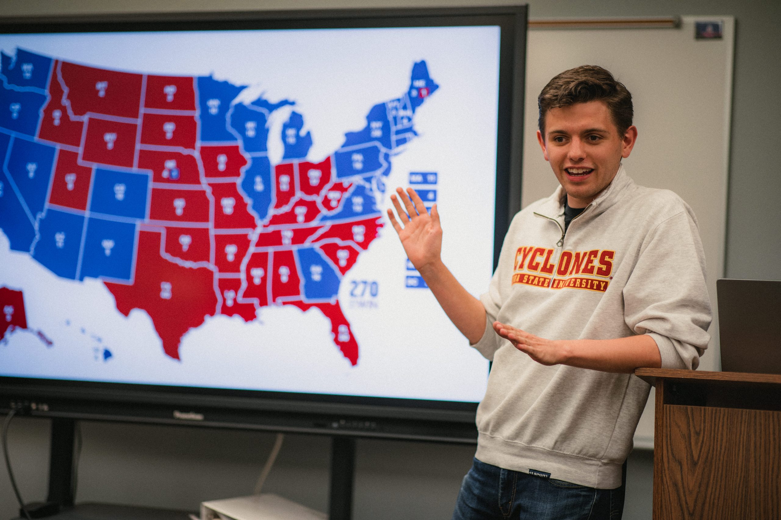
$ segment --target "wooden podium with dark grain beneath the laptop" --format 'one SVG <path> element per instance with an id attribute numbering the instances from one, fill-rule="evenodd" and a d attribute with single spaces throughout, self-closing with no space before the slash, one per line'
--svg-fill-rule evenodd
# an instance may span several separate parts
<path id="1" fill-rule="evenodd" d="M 781 375 L 642 368 L 654 520 L 781 518 Z"/>

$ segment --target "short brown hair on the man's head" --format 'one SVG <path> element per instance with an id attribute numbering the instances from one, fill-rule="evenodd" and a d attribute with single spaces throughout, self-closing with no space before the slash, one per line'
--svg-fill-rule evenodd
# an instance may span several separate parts
<path id="1" fill-rule="evenodd" d="M 608 105 L 619 136 L 623 136 L 626 129 L 632 126 L 632 94 L 629 94 L 624 84 L 616 81 L 608 70 L 599 65 L 581 65 L 555 76 L 537 97 L 537 106 L 540 108 L 537 124 L 543 138 L 547 111 L 588 101 L 604 101 Z"/>

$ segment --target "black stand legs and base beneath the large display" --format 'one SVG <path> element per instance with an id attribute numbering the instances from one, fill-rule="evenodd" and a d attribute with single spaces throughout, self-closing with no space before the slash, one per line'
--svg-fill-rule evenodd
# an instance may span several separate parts
<path id="1" fill-rule="evenodd" d="M 162 511 L 149 508 L 129 508 L 109 504 L 84 504 L 74 507 L 73 501 L 73 447 L 76 438 L 76 422 L 73 419 L 52 419 L 52 443 L 49 458 L 48 502 L 59 504 L 63 512 L 50 516 L 57 520 L 77 520 L 83 518 L 80 509 L 102 511 L 102 515 L 127 520 L 149 520 L 149 518 L 171 518 L 184 520 L 187 513 L 181 511 Z M 330 460 L 330 520 L 351 520 L 352 492 L 355 483 L 355 438 L 346 436 L 331 437 Z M 115 511 L 116 509 L 116 511 Z"/>

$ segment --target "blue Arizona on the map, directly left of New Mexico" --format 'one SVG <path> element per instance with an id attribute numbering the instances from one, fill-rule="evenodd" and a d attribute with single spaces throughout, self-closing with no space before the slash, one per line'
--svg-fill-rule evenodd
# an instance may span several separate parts
<path id="1" fill-rule="evenodd" d="M 75 280 L 83 231 L 84 216 L 48 208 L 38 221 L 33 258 L 57 276 Z"/>

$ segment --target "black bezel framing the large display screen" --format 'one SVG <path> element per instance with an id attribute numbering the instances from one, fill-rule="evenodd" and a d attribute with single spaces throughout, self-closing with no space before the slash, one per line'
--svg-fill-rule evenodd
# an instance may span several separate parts
<path id="1" fill-rule="evenodd" d="M 494 268 L 520 206 L 526 6 L 191 12 L 5 19 L 0 34 L 191 30 L 500 27 Z M 35 415 L 152 423 L 200 423 L 361 436 L 476 439 L 476 403 L 211 387 L 0 376 L 0 409 Z M 178 417 L 177 417 L 178 412 Z M 473 437 L 474 436 L 474 437 Z"/>

